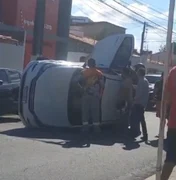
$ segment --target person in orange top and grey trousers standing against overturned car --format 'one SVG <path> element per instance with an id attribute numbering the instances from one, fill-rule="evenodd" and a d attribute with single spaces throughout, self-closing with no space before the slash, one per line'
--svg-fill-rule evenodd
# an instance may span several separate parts
<path id="1" fill-rule="evenodd" d="M 94 59 L 88 60 L 88 69 L 82 71 L 82 123 L 83 132 L 89 129 L 89 120 L 92 118 L 94 130 L 100 132 L 100 102 L 104 89 L 104 79 L 101 71 L 96 69 Z"/>

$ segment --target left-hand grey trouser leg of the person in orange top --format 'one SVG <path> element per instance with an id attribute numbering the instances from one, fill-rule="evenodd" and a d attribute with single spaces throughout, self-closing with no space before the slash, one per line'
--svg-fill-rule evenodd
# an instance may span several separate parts
<path id="1" fill-rule="evenodd" d="M 89 95 L 82 97 L 82 131 L 88 131 L 90 119 L 90 98 Z"/>

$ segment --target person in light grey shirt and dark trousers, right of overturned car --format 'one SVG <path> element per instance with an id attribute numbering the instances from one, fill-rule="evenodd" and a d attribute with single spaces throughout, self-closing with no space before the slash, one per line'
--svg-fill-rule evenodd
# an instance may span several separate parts
<path id="1" fill-rule="evenodd" d="M 130 132 L 132 138 L 138 137 L 140 132 L 140 124 L 142 125 L 142 139 L 148 141 L 147 126 L 145 121 L 145 108 L 149 98 L 149 83 L 145 78 L 145 69 L 141 68 L 137 72 L 138 84 L 134 98 L 134 104 L 131 112 Z"/>

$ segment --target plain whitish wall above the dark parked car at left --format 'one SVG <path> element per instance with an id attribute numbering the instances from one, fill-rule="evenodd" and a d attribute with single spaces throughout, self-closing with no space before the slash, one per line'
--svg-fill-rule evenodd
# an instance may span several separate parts
<path id="1" fill-rule="evenodd" d="M 24 46 L 0 43 L 0 67 L 23 71 Z"/>

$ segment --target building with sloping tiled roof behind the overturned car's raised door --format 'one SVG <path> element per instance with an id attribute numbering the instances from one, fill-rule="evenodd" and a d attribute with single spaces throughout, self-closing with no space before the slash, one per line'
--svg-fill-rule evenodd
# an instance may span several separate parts
<path id="1" fill-rule="evenodd" d="M 68 58 L 79 61 L 81 56 L 88 56 L 94 45 L 107 36 L 125 34 L 126 29 L 108 22 L 80 22 L 70 26 Z"/>

